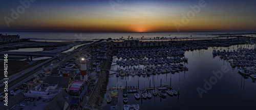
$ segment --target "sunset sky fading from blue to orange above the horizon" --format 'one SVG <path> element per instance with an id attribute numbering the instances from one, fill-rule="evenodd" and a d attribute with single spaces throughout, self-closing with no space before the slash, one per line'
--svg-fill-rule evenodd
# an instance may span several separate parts
<path id="1" fill-rule="evenodd" d="M 28 0 L 22 0 L 28 1 Z M 32 0 L 31 0 L 32 1 Z M 35 0 L 33 0 L 35 1 Z M 119 3 L 118 3 L 119 1 Z M 19 1 L 0 4 L 1 31 L 28 32 L 180 32 L 255 31 L 256 1 L 204 1 L 189 22 L 182 14 L 199 0 L 35 1 L 24 8 Z M 26 3 L 26 5 L 28 5 Z M 17 11 L 17 8 L 19 11 Z M 12 18 L 15 12 L 19 17 Z M 195 13 L 195 12 L 194 12 Z M 190 14 L 191 15 L 191 14 Z M 15 16 L 16 17 L 16 16 Z M 11 19 L 11 20 L 10 20 Z M 9 23 L 8 23 L 9 21 Z M 12 22 L 14 21 L 14 22 Z M 8 26 L 9 24 L 9 26 Z"/>

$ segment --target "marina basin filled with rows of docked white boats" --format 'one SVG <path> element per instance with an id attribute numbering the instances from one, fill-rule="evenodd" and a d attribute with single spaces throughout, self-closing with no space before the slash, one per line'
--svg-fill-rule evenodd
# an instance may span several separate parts
<path id="1" fill-rule="evenodd" d="M 248 49 L 243 49 L 248 48 Z M 182 48 L 182 49 L 181 49 Z M 239 73 L 239 68 L 234 68 L 231 66 L 232 57 L 231 54 L 234 53 L 233 50 L 241 51 L 240 53 L 246 54 L 246 57 L 239 56 L 238 58 L 244 58 L 245 61 L 250 62 L 251 66 L 254 67 L 254 58 L 253 49 L 255 48 L 255 44 L 241 44 L 241 45 L 230 45 L 227 47 L 205 47 L 200 49 L 188 49 L 184 50 L 183 54 L 178 54 L 178 56 L 172 56 L 166 52 L 166 57 L 162 57 L 161 54 L 154 53 L 155 57 L 148 56 L 148 54 L 156 50 L 161 50 L 158 53 L 165 53 L 164 51 L 171 51 L 177 54 L 178 51 L 183 50 L 184 46 L 181 46 L 174 50 L 172 47 L 167 48 L 153 48 L 153 49 L 117 49 L 117 56 L 113 56 L 112 67 L 110 69 L 110 82 L 108 88 L 116 88 L 119 91 L 127 91 L 127 102 L 124 102 L 123 99 L 119 98 L 118 106 L 122 106 L 122 109 L 127 108 L 128 106 L 138 104 L 140 109 L 150 109 L 156 108 L 154 107 L 154 103 L 158 104 L 158 108 L 162 109 L 168 105 L 167 103 L 172 103 L 170 106 L 172 108 L 183 108 L 180 106 L 180 102 L 184 102 L 188 104 L 185 100 L 207 100 L 205 98 L 201 99 L 197 92 L 197 88 L 199 86 L 203 87 L 203 79 L 204 77 L 209 77 L 212 74 L 212 70 L 221 70 L 221 66 L 226 65 L 228 66 L 229 71 L 223 74 L 223 78 L 219 80 L 220 84 L 218 86 L 214 86 L 213 88 L 221 88 L 224 89 L 224 86 L 221 85 L 229 85 L 223 84 L 225 80 L 236 80 L 235 82 L 240 81 L 240 84 L 236 84 L 237 86 L 233 85 L 231 88 L 236 89 L 240 92 L 236 92 L 236 94 L 241 93 L 242 91 L 249 91 L 248 85 L 254 85 L 255 79 L 253 78 L 253 74 L 247 75 L 248 77 L 245 78 L 241 74 L 236 74 L 235 76 L 232 73 Z M 140 51 L 139 56 L 136 55 L 136 52 Z M 214 55 L 214 51 L 220 51 L 220 53 Z M 229 51 L 224 53 L 223 51 Z M 231 52 L 232 50 L 232 52 Z M 129 51 L 129 52 L 127 52 Z M 146 53 L 148 51 L 148 54 Z M 247 53 L 245 53 L 247 51 Z M 251 54 L 248 53 L 250 51 Z M 142 53 L 144 52 L 144 53 Z M 228 57 L 228 59 L 223 59 Z M 124 57 L 125 56 L 125 57 Z M 250 59 L 249 59 L 250 58 Z M 157 60 L 156 60 L 157 59 Z M 186 60 L 183 60 L 186 59 Z M 157 61 L 157 63 L 155 63 Z M 165 61 L 165 62 L 162 62 Z M 200 62 L 200 63 L 199 63 Z M 125 65 L 123 65 L 125 64 Z M 182 65 L 181 65 L 182 64 Z M 249 63 L 248 63 L 249 64 Z M 168 66 L 169 65 L 169 66 Z M 197 69 L 197 66 L 201 66 L 200 69 Z M 172 71 L 175 69 L 174 67 L 177 66 L 179 69 L 178 71 Z M 210 70 L 206 69 L 211 67 Z M 182 67 L 186 67 L 187 69 L 182 69 Z M 245 66 L 246 67 L 246 66 Z M 166 72 L 161 71 L 161 69 L 165 69 Z M 143 73 L 145 72 L 145 73 Z M 152 74 L 151 74 L 152 73 Z M 205 74 L 202 74 L 205 73 Z M 230 76 L 231 75 L 231 76 Z M 229 77 L 229 78 L 228 78 Z M 230 77 L 232 79 L 230 79 Z M 249 78 L 250 77 L 250 78 Z M 193 82 L 192 79 L 194 80 Z M 201 81 L 200 81 L 201 80 Z M 250 82 L 252 80 L 252 82 Z M 154 87 L 155 85 L 155 87 Z M 186 85 L 185 88 L 184 85 Z M 255 86 L 255 85 L 254 85 Z M 174 88 L 175 87 L 175 88 Z M 247 89 L 246 89 L 247 87 Z M 209 90 L 209 94 L 213 94 L 212 92 L 218 91 L 218 89 Z M 226 89 L 226 91 L 229 91 Z M 180 93 L 181 92 L 181 93 Z M 218 91 L 220 92 L 220 91 Z M 108 94 L 108 91 L 107 93 Z M 148 96 L 150 94 L 151 96 Z M 192 94 L 192 95 L 189 95 Z M 224 93 L 220 92 L 217 96 L 218 99 L 229 100 L 223 98 Z M 122 95 L 123 97 L 123 95 Z M 137 98 L 136 98 L 137 97 Z M 193 97 L 193 98 L 192 98 Z M 208 93 L 203 94 L 203 97 L 210 98 Z M 241 97 L 238 95 L 238 97 Z M 211 97 L 210 99 L 212 99 Z M 166 100 L 166 101 L 163 101 Z M 168 101 L 167 101 L 168 100 Z M 169 101 L 170 100 L 170 101 Z M 179 103 L 178 103 L 179 102 Z M 201 102 L 201 101 L 200 101 Z M 120 104 L 122 103 L 122 105 Z M 175 104 L 176 103 L 176 104 Z M 188 104 L 189 106 L 194 106 L 196 102 L 192 102 Z M 201 102 L 204 103 L 204 102 Z M 153 105 L 148 105 L 153 104 Z M 204 103 L 206 104 L 206 103 Z M 220 104 L 220 103 L 219 103 Z M 224 104 L 224 103 L 223 103 Z M 229 104 L 229 103 L 226 103 Z M 230 103 L 231 104 L 231 103 Z M 113 104 L 112 104 L 113 105 Z M 207 104 L 206 104 L 207 105 Z M 210 104 L 209 104 L 210 105 Z M 102 107 L 103 109 L 108 108 L 108 104 Z M 165 107 L 164 107 L 165 106 Z M 179 106 L 179 107 L 178 107 Z M 224 105 L 223 105 L 224 106 Z M 201 107 L 204 108 L 204 107 Z M 242 108 L 242 106 L 241 106 Z M 118 108 L 119 109 L 119 108 Z M 121 108 L 120 108 L 121 109 Z"/>

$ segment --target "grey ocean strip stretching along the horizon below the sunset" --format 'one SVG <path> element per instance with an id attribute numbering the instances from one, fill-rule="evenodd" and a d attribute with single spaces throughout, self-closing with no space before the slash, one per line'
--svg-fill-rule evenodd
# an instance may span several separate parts
<path id="1" fill-rule="evenodd" d="M 0 32 L 8 35 L 20 35 L 20 38 L 31 39 L 58 39 L 58 40 L 93 40 L 93 39 L 126 39 L 130 36 L 133 39 L 154 40 L 154 37 L 177 37 L 178 39 L 200 39 L 200 38 L 216 38 L 217 36 L 211 36 L 212 34 L 243 34 L 251 33 L 251 31 L 236 31 L 236 32 L 155 32 L 155 33 L 79 33 L 79 32 Z M 254 33 L 254 32 L 252 32 Z M 253 35 L 255 36 L 255 34 Z"/>

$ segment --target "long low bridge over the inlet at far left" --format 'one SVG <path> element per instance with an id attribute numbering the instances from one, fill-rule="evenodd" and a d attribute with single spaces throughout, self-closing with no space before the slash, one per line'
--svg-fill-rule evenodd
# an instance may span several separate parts
<path id="1" fill-rule="evenodd" d="M 27 51 L 4 51 L 0 53 L 1 55 L 8 54 L 8 56 L 30 56 L 30 60 L 32 61 L 32 56 L 38 56 L 38 57 L 55 57 L 57 56 L 56 52 L 27 52 Z"/>

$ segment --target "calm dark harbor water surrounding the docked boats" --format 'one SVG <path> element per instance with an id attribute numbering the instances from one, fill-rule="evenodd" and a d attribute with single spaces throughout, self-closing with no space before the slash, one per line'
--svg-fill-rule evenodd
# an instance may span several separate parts
<path id="1" fill-rule="evenodd" d="M 252 48 L 255 45 L 240 45 L 239 47 Z M 230 47 L 216 47 L 216 49 L 233 50 L 237 49 L 238 45 Z M 256 83 L 255 79 L 249 77 L 245 79 L 238 73 L 237 68 L 232 68 L 227 61 L 221 60 L 218 56 L 212 56 L 212 50 L 214 47 L 209 47 L 207 50 L 194 50 L 185 51 L 185 57 L 188 58 L 188 63 L 185 66 L 188 71 L 183 71 L 175 74 L 160 74 L 152 75 L 150 77 L 132 77 L 128 76 L 124 79 L 116 77 L 115 74 L 110 76 L 109 88 L 112 86 L 125 86 L 127 80 L 127 86 L 138 85 L 139 88 L 149 87 L 151 80 L 151 87 L 153 87 L 153 77 L 155 77 L 156 87 L 162 84 L 170 84 L 178 90 L 180 89 L 180 95 L 168 96 L 166 98 L 160 98 L 159 96 L 153 96 L 151 91 L 151 99 L 136 100 L 134 94 L 128 94 L 127 104 L 140 105 L 140 109 L 256 109 L 255 104 L 255 91 Z M 113 59 L 115 62 L 117 58 Z M 212 88 L 207 90 L 207 93 L 203 93 L 200 97 L 197 88 L 204 89 L 205 81 L 209 81 L 210 77 L 215 76 L 212 71 L 221 71 L 222 66 L 227 66 L 227 72 L 223 73 L 223 77 L 217 80 Z M 119 66 L 112 66 L 111 70 L 115 70 Z M 140 66 L 143 67 L 143 66 Z M 111 72 L 113 73 L 113 72 Z M 172 79 L 171 79 L 172 77 Z M 145 86 L 144 86 L 145 83 Z M 108 97 L 110 91 L 107 91 L 105 97 Z M 123 102 L 121 102 L 123 103 Z M 103 102 L 102 109 L 110 109 L 110 104 Z"/>

